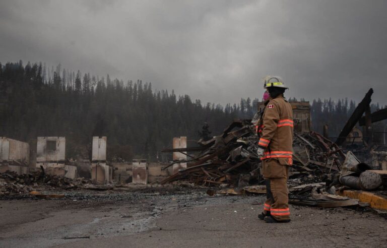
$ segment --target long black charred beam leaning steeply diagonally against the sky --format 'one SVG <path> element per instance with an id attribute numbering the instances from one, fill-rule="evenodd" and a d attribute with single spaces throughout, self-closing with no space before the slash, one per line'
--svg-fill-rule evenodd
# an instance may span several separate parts
<path id="1" fill-rule="evenodd" d="M 363 100 L 357 105 L 355 111 L 353 111 L 351 117 L 348 119 L 346 125 L 344 126 L 343 130 L 341 131 L 339 138 L 336 140 L 337 145 L 342 145 L 349 135 L 349 133 L 352 131 L 353 127 L 355 127 L 356 123 L 359 121 L 361 116 L 363 115 L 364 111 L 366 110 L 367 106 L 371 103 L 371 95 L 373 93 L 372 88 L 368 90 L 367 94 L 365 94 Z"/>

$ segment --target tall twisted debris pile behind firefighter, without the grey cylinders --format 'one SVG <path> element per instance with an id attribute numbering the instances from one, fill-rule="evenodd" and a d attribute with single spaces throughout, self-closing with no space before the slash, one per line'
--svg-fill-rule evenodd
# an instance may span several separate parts
<path id="1" fill-rule="evenodd" d="M 224 132 L 209 141 L 199 141 L 199 147 L 166 149 L 163 152 L 200 151 L 162 183 L 184 180 L 199 185 L 226 184 L 242 188 L 248 184 L 264 184 L 260 169 L 261 159 L 256 156 L 259 136 L 250 119 L 235 120 Z M 338 172 L 345 159 L 343 151 L 332 141 L 311 132 L 296 134 L 293 142 L 293 166 L 290 179 L 293 184 L 320 182 Z M 165 167 L 165 168 L 167 168 Z M 164 168 L 164 169 L 165 169 Z"/>

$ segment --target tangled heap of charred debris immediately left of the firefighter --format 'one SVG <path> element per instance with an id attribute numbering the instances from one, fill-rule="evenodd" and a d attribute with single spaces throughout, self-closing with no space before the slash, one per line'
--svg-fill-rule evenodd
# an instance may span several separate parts
<path id="1" fill-rule="evenodd" d="M 236 120 L 221 135 L 208 141 L 199 141 L 199 147 L 164 150 L 163 152 L 184 153 L 200 151 L 200 154 L 190 160 L 175 161 L 174 163 L 188 162 L 189 167 L 180 169 L 179 173 L 162 183 L 185 180 L 199 185 L 237 186 L 246 184 L 246 181 L 248 183 L 250 180 L 260 180 L 261 161 L 255 152 L 258 140 L 251 120 Z"/>

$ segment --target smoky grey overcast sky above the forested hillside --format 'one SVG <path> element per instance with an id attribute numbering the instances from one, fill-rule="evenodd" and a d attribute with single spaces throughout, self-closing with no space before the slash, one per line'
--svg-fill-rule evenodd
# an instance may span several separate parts
<path id="1" fill-rule="evenodd" d="M 0 0 L 0 61 L 152 82 L 202 102 L 288 97 L 387 104 L 387 1 Z"/>

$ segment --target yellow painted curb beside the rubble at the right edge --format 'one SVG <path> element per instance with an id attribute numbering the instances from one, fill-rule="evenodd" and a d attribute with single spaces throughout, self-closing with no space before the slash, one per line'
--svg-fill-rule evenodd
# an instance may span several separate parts
<path id="1" fill-rule="evenodd" d="M 387 210 L 387 197 L 365 191 L 337 191 L 337 194 L 369 203 L 369 206 L 374 209 Z"/>

